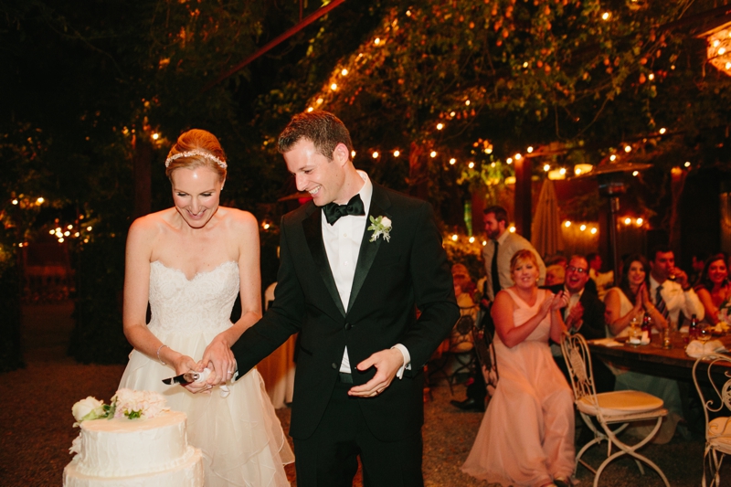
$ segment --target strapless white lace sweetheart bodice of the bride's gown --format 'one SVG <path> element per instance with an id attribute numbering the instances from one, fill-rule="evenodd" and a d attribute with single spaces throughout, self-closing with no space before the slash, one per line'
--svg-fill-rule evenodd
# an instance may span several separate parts
<path id="1" fill-rule="evenodd" d="M 238 264 L 224 262 L 188 280 L 182 270 L 150 265 L 151 331 L 222 332 L 231 326 L 231 308 L 238 295 Z"/>

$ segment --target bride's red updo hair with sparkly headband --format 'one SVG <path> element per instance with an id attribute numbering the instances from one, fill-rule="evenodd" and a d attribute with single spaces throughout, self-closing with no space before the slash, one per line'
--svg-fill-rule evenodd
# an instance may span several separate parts
<path id="1" fill-rule="evenodd" d="M 165 175 L 170 182 L 175 169 L 207 167 L 217 173 L 220 181 L 226 180 L 226 154 L 216 135 L 200 129 L 183 132 L 165 159 Z"/>

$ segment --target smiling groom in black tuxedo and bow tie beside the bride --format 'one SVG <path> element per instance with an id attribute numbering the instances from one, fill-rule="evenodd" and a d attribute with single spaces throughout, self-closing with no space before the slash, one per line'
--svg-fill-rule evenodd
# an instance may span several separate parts
<path id="1" fill-rule="evenodd" d="M 281 219 L 275 301 L 231 347 L 239 376 L 301 332 L 297 484 L 350 486 L 360 456 L 366 487 L 421 486 L 422 367 L 459 318 L 431 208 L 356 171 L 332 113 L 296 115 L 279 150 L 313 201 Z"/>

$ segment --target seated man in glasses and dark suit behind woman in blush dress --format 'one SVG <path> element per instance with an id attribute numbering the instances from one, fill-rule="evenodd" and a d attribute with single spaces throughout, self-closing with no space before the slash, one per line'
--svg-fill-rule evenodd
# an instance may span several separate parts
<path id="1" fill-rule="evenodd" d="M 561 310 L 568 333 L 581 333 L 587 340 L 605 338 L 607 332 L 604 325 L 604 303 L 597 295 L 586 289 L 588 277 L 588 261 L 582 255 L 575 255 L 568 261 L 566 281 L 563 284 L 550 286 L 554 293 L 564 291 L 568 295 L 568 305 Z M 551 345 L 551 352 L 556 359 L 558 368 L 567 376 L 568 370 L 561 348 L 557 344 Z M 597 392 L 614 390 L 614 374 L 599 358 L 591 358 L 591 368 L 594 372 L 594 385 Z"/>

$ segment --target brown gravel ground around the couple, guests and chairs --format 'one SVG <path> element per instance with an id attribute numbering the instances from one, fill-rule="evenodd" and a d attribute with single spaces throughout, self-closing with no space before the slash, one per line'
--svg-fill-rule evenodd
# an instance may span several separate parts
<path id="1" fill-rule="evenodd" d="M 71 406 L 82 397 L 108 400 L 115 392 L 122 365 L 80 365 L 65 356 L 72 326 L 69 303 L 36 305 L 24 309 L 26 335 L 25 369 L 0 375 L 4 384 L 3 414 L 0 414 L 0 486 L 60 485 L 64 466 L 70 461 L 69 447 L 78 434 L 71 427 Z M 52 377 L 51 377 L 52 376 Z M 462 386 L 455 387 L 461 399 Z M 494 484 L 472 479 L 461 472 L 482 413 L 462 412 L 450 406 L 450 390 L 443 384 L 431 389 L 425 405 L 424 479 L 427 487 L 488 487 Z M 278 411 L 284 429 L 289 428 L 290 410 Z M 643 452 L 660 466 L 673 486 L 700 484 L 703 439 L 676 436 L 667 445 L 651 445 Z M 585 458 L 599 465 L 606 450 L 593 449 Z M 287 468 L 296 486 L 294 469 Z M 731 485 L 731 468 L 722 480 Z M 580 485 L 591 485 L 593 475 L 579 467 Z M 360 487 L 360 476 L 354 486 Z M 641 476 L 632 461 L 613 462 L 601 477 L 602 486 L 661 486 L 652 471 Z M 386 486 L 387 487 L 387 486 Z"/>

